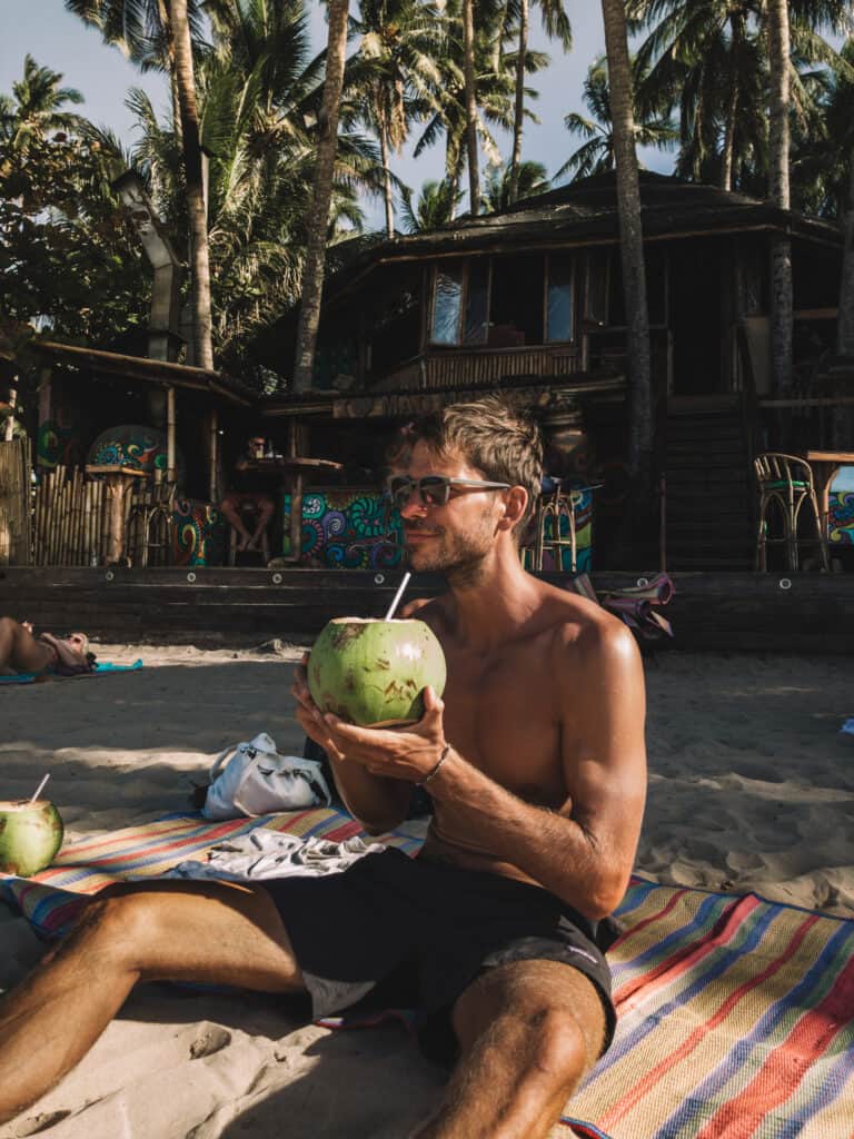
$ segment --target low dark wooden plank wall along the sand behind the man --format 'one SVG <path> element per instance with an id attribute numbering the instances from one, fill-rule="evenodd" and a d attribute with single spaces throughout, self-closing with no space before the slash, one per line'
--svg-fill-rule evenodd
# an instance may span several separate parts
<path id="1" fill-rule="evenodd" d="M 543 574 L 558 585 L 567 579 Z M 593 573 L 600 591 L 639 574 Z M 644 574 L 651 577 L 652 574 Z M 851 653 L 854 574 L 674 573 L 664 609 L 672 641 L 644 650 Z M 82 628 L 97 639 L 149 644 L 305 644 L 334 616 L 381 616 L 400 573 L 322 570 L 0 570 L 0 613 L 42 629 Z M 413 579 L 407 598 L 432 597 L 438 575 Z"/>

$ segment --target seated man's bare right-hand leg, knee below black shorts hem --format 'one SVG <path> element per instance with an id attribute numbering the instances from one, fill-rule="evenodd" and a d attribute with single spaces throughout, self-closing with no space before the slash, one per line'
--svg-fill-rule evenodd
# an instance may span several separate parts
<path id="1" fill-rule="evenodd" d="M 557 961 L 490 969 L 459 998 L 461 1057 L 416 1139 L 544 1139 L 605 1039 L 590 982 Z"/>

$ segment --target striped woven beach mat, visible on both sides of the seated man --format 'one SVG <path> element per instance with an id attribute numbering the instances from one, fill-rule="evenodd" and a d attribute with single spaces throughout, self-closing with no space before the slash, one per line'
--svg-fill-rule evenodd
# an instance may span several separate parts
<path id="1" fill-rule="evenodd" d="M 56 936 L 81 895 L 156 877 L 257 827 L 339 842 L 362 834 L 334 810 L 227 822 L 172 814 L 68 845 L 34 878 L 0 879 L 0 896 Z M 410 854 L 420 846 L 405 826 L 381 841 Z M 617 917 L 617 1032 L 568 1105 L 568 1133 L 854 1139 L 854 921 L 641 878 Z"/>

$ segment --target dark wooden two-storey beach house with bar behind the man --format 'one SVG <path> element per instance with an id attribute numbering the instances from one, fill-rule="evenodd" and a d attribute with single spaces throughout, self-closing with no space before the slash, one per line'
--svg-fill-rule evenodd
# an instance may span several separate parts
<path id="1" fill-rule="evenodd" d="M 181 493 L 167 555 L 130 566 L 107 564 L 104 546 L 90 560 L 85 540 L 71 562 L 67 546 L 46 562 L 36 509 L 41 564 L 0 567 L 6 597 L 54 624 L 71 609 L 100 636 L 206 641 L 307 634 L 334 614 L 380 613 L 403 555 L 399 521 L 378 493 L 391 433 L 421 411 L 504 392 L 543 425 L 548 473 L 573 492 L 575 568 L 591 570 L 600 592 L 666 564 L 681 645 L 773 648 L 793 636 L 802 648 L 849 644 L 849 573 L 753 572 L 754 457 L 832 452 L 845 442 L 852 371 L 831 352 L 840 232 L 657 174 L 641 174 L 641 197 L 664 493 L 631 565 L 611 555 L 627 492 L 629 379 L 616 187 L 601 175 L 500 214 L 336 251 L 305 392 L 264 398 L 203 369 L 42 344 L 36 467 L 48 443 L 51 462 L 71 456 L 75 431 L 76 461 L 98 466 L 95 427 L 137 423 L 162 431 L 157 461 Z M 770 367 L 771 246 L 780 235 L 795 282 L 794 380 L 783 393 Z M 284 314 L 258 345 L 276 371 L 294 359 L 295 327 L 296 314 Z M 93 401 L 88 433 L 69 426 L 68 409 L 91 411 Z M 279 544 L 269 567 L 232 568 L 216 501 L 222 456 L 248 429 L 261 429 L 272 451 L 262 469 L 279 494 Z M 835 567 L 848 570 L 849 499 L 831 502 Z M 567 557 L 552 550 L 543 571 L 563 581 Z"/>

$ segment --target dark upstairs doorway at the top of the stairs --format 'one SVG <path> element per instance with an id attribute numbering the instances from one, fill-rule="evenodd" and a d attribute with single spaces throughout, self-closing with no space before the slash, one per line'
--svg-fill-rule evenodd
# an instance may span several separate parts
<path id="1" fill-rule="evenodd" d="M 691 239 L 671 246 L 673 394 L 725 391 L 721 249 Z"/>

